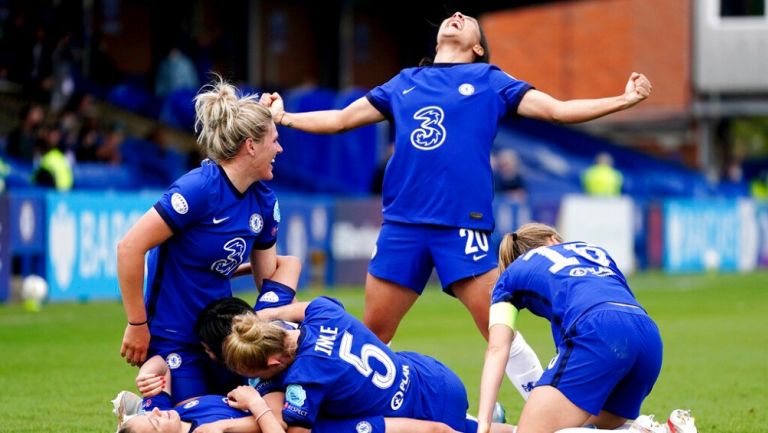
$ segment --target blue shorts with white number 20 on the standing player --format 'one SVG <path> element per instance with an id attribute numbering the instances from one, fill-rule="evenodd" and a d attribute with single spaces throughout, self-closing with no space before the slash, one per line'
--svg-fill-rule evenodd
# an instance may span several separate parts
<path id="1" fill-rule="evenodd" d="M 368 272 L 420 295 L 435 268 L 443 291 L 453 295 L 451 284 L 496 267 L 489 239 L 480 230 L 384 221 Z"/>

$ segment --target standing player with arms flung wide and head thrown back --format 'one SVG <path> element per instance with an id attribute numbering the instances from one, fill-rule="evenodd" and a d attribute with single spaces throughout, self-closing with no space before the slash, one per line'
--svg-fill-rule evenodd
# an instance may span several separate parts
<path id="1" fill-rule="evenodd" d="M 402 70 L 343 110 L 270 110 L 282 126 L 338 133 L 389 119 L 395 152 L 384 176 L 384 224 L 368 268 L 363 322 L 389 342 L 437 270 L 443 290 L 472 314 L 487 339 L 489 292 L 498 277 L 491 144 L 504 115 L 576 123 L 630 108 L 651 83 L 632 73 L 622 95 L 559 101 L 488 64 L 476 19 L 456 12 L 440 25 L 434 63 Z"/>

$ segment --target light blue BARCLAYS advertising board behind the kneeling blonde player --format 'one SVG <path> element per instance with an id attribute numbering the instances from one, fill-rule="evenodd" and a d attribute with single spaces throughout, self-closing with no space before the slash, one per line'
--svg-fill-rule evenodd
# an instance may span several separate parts
<path id="1" fill-rule="evenodd" d="M 51 300 L 119 298 L 117 243 L 158 193 L 46 195 Z"/>

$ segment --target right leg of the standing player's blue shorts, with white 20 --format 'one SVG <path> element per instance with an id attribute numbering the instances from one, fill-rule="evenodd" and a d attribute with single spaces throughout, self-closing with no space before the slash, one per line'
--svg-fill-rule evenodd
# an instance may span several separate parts
<path id="1" fill-rule="evenodd" d="M 443 291 L 449 295 L 456 295 L 454 283 L 476 278 L 496 268 L 489 232 L 456 227 L 432 227 L 430 230 L 432 261 Z"/>

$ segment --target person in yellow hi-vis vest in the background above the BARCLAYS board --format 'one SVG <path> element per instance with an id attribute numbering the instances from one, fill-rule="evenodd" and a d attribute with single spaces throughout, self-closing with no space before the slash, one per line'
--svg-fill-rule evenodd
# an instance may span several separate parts
<path id="1" fill-rule="evenodd" d="M 40 158 L 40 165 L 35 170 L 33 180 L 39 186 L 69 191 L 74 184 L 72 164 L 61 151 L 60 141 L 61 131 L 56 126 L 45 128 L 40 139 L 43 156 Z"/>

